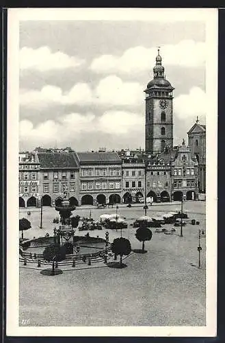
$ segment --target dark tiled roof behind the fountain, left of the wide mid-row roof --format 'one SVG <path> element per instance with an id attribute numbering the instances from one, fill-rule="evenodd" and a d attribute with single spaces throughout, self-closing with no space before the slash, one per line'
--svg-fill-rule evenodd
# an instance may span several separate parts
<path id="1" fill-rule="evenodd" d="M 38 152 L 38 159 L 41 168 L 78 168 L 70 152 Z"/>

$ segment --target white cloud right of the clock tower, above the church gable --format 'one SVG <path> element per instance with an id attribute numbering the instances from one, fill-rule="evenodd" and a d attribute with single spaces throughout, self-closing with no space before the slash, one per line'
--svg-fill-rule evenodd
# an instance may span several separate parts
<path id="1" fill-rule="evenodd" d="M 174 99 L 174 114 L 181 119 L 205 116 L 207 113 L 207 95 L 199 87 L 192 87 L 188 94 L 178 95 Z"/>

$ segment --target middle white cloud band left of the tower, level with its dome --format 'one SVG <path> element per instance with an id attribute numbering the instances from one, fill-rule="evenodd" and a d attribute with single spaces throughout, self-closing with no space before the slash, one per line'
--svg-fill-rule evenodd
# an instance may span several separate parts
<path id="1" fill-rule="evenodd" d="M 48 107 L 55 104 L 77 105 L 140 105 L 143 100 L 143 89 L 137 82 L 123 82 L 115 75 L 100 80 L 96 88 L 78 83 L 70 91 L 62 92 L 55 86 L 44 86 L 40 91 L 21 90 L 20 104 L 29 108 Z"/>

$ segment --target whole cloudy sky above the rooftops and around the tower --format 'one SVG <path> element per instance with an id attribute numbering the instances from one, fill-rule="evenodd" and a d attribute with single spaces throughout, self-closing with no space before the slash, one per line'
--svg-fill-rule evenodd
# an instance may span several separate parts
<path id="1" fill-rule="evenodd" d="M 161 47 L 174 144 L 205 121 L 204 22 L 21 21 L 20 149 L 144 148 L 144 89 Z"/>

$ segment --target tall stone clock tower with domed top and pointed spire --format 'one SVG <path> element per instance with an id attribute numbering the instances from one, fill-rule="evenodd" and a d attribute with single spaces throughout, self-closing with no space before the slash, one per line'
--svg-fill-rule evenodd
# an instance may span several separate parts
<path id="1" fill-rule="evenodd" d="M 173 147 L 172 91 L 174 88 L 164 75 L 159 49 L 153 77 L 144 91 L 146 93 L 145 150 L 147 153 L 157 154 L 166 147 Z"/>

